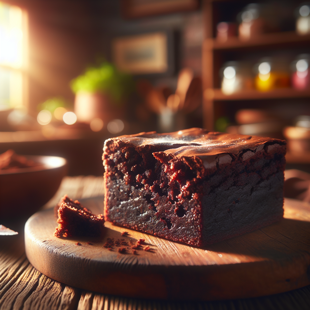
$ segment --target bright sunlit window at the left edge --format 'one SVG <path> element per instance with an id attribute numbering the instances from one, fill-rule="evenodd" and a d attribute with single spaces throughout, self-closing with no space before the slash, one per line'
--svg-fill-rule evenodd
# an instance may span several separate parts
<path id="1" fill-rule="evenodd" d="M 0 110 L 27 107 L 27 14 L 0 2 Z"/>

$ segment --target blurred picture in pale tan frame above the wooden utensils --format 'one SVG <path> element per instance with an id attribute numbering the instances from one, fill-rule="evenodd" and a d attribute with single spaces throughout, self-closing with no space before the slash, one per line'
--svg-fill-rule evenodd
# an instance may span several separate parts
<path id="1" fill-rule="evenodd" d="M 164 31 L 114 38 L 114 63 L 120 71 L 134 75 L 171 73 L 172 41 L 172 34 Z"/>

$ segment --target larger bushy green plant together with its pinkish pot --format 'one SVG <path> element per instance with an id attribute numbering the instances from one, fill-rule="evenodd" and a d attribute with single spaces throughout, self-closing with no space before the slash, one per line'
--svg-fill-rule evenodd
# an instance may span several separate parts
<path id="1" fill-rule="evenodd" d="M 74 112 L 78 121 L 90 123 L 100 118 L 105 124 L 125 115 L 125 103 L 134 88 L 130 75 L 119 72 L 113 64 L 102 63 L 87 68 L 71 81 L 75 93 Z"/>

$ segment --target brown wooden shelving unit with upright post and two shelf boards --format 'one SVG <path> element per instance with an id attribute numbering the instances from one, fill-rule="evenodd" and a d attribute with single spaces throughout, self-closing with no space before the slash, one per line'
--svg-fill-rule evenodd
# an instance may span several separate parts
<path id="1" fill-rule="evenodd" d="M 227 109 L 227 103 L 230 101 L 244 101 L 244 106 L 250 104 L 248 101 L 257 100 L 257 108 L 265 107 L 263 100 L 281 100 L 281 99 L 303 99 L 310 98 L 310 89 L 299 91 L 292 88 L 275 89 L 268 92 L 257 90 L 246 90 L 224 95 L 219 89 L 219 70 L 223 64 L 229 60 L 253 61 L 264 55 L 276 55 L 276 51 L 290 50 L 292 55 L 307 52 L 310 48 L 310 34 L 298 35 L 295 31 L 283 31 L 274 33 L 263 33 L 249 40 L 240 40 L 237 36 L 230 37 L 226 42 L 221 42 L 214 38 L 216 25 L 224 18 L 222 11 L 228 9 L 225 5 L 218 5 L 215 2 L 221 0 L 203 1 L 203 14 L 205 21 L 206 38 L 202 46 L 202 81 L 203 81 L 203 121 L 204 127 L 208 130 L 214 130 L 215 118 L 224 116 L 227 113 L 232 114 L 233 109 Z M 225 1 L 226 2 L 226 1 Z M 250 1 L 233 0 L 231 7 L 235 7 L 232 15 L 237 14 L 246 3 Z M 223 2 L 224 4 L 224 2 Z M 225 13 L 226 14 L 226 13 Z M 226 15 L 225 15 L 226 16 Z M 233 16 L 232 16 L 233 17 Z M 223 101 L 223 104 L 220 102 Z M 226 101 L 226 103 L 225 103 Z M 293 104 L 293 103 L 292 103 Z M 251 104 L 250 104 L 251 105 Z M 231 117 L 232 115 L 230 115 Z"/>

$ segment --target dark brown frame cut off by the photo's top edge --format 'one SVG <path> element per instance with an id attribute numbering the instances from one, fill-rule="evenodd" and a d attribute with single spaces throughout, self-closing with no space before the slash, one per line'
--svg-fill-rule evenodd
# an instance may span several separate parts
<path id="1" fill-rule="evenodd" d="M 121 4 L 124 18 L 192 11 L 199 7 L 198 0 L 122 0 Z"/>

